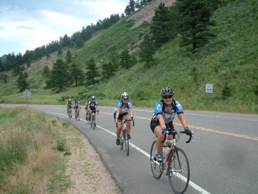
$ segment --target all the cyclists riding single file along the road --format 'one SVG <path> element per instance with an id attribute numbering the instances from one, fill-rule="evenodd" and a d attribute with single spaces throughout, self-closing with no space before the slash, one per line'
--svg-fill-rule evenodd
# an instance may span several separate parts
<path id="1" fill-rule="evenodd" d="M 178 119 L 184 127 L 184 131 L 186 131 L 186 134 L 191 133 L 191 130 L 187 127 L 187 122 L 186 118 L 184 117 L 182 105 L 180 105 L 178 100 L 175 100 L 173 98 L 173 94 L 174 91 L 173 89 L 171 89 L 171 87 L 164 87 L 160 91 L 162 99 L 158 100 L 158 102 L 155 104 L 154 112 L 151 117 L 151 131 L 157 137 L 156 149 L 158 153 L 156 155 L 156 159 L 158 162 L 162 162 L 162 140 L 164 139 L 164 133 L 166 133 L 166 131 L 168 131 L 169 129 L 174 130 L 173 119 L 175 118 L 175 114 L 178 115 Z M 69 109 L 72 109 L 72 105 L 74 105 L 74 109 L 80 108 L 80 103 L 77 99 L 75 99 L 74 104 L 72 103 L 71 99 L 69 99 L 69 101 L 67 102 L 67 111 Z M 99 111 L 98 102 L 96 102 L 95 96 L 92 96 L 92 98 L 87 101 L 87 103 L 85 104 L 85 110 L 86 120 L 90 118 L 91 110 Z M 129 94 L 127 92 L 124 92 L 121 94 L 121 99 L 118 100 L 118 103 L 116 104 L 116 108 L 114 110 L 114 121 L 117 122 L 118 120 L 130 118 L 133 120 L 135 119 L 133 117 L 133 105 L 129 100 Z M 94 124 L 96 125 L 96 120 Z M 122 131 L 122 123 L 117 122 L 117 124 L 118 127 L 116 128 L 116 144 L 119 145 L 119 136 Z M 131 121 L 127 121 L 127 132 L 128 138 L 131 139 Z M 172 140 L 172 137 L 169 137 L 168 139 Z M 167 143 L 167 145 L 169 145 L 169 143 Z"/>

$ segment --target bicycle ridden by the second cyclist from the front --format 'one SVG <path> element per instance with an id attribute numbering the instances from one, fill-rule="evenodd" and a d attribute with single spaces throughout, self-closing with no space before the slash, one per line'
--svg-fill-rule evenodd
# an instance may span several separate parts
<path id="1" fill-rule="evenodd" d="M 133 127 L 134 127 L 134 118 L 132 119 L 122 119 L 122 120 L 117 120 L 117 122 L 122 122 L 122 131 L 120 133 L 120 149 L 124 147 L 125 143 L 125 151 L 127 155 L 129 155 L 129 138 L 128 138 L 128 133 L 127 133 L 127 121 L 133 121 Z M 116 127 L 118 127 L 118 123 L 116 122 Z"/>

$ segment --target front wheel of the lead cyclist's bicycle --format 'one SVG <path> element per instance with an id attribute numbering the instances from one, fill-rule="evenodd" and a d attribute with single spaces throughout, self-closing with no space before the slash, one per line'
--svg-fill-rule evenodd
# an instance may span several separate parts
<path id="1" fill-rule="evenodd" d="M 186 153 L 184 153 L 180 148 L 175 148 L 175 151 L 169 158 L 168 165 L 169 164 L 172 164 L 171 168 L 173 171 L 173 176 L 169 176 L 169 184 L 171 188 L 177 194 L 184 193 L 190 179 L 190 166 Z"/>

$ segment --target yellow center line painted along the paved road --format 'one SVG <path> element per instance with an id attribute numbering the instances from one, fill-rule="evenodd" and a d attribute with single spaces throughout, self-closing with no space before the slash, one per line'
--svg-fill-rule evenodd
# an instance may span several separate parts
<path id="1" fill-rule="evenodd" d="M 105 112 L 101 112 L 101 113 L 111 114 L 111 113 L 105 113 Z M 140 118 L 140 119 L 144 119 L 144 120 L 151 120 L 151 118 L 145 118 L 145 117 L 140 117 L 140 116 L 135 116 L 135 118 Z M 173 125 L 182 125 L 182 124 L 178 123 L 178 122 L 173 122 Z M 241 134 L 237 134 L 237 133 L 219 131 L 219 130 L 208 129 L 208 128 L 204 128 L 204 127 L 196 127 L 196 126 L 193 126 L 193 125 L 189 125 L 188 127 L 193 128 L 193 129 L 200 129 L 202 131 L 209 131 L 209 132 L 212 132 L 212 133 L 220 133 L 220 134 L 224 134 L 224 135 L 228 135 L 228 136 L 235 136 L 235 137 L 239 137 L 239 138 L 246 138 L 246 139 L 249 139 L 249 140 L 257 140 L 258 141 L 258 137 L 250 137 L 250 136 L 241 135 Z"/>

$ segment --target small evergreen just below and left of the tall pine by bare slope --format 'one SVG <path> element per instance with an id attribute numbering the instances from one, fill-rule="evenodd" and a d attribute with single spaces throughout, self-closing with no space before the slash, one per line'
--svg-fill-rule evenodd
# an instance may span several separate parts
<path id="1" fill-rule="evenodd" d="M 144 36 L 144 41 L 140 43 L 140 60 L 142 62 L 146 62 L 147 67 L 149 67 L 150 63 L 154 61 L 153 54 L 155 53 L 155 45 L 153 41 L 151 41 L 151 38 L 149 34 L 146 34 Z"/>

